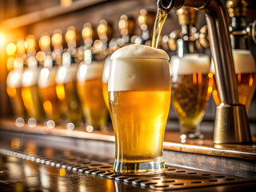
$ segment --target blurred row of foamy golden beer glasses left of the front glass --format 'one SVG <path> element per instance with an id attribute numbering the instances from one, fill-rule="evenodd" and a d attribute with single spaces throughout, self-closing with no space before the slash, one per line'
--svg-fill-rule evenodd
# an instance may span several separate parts
<path id="1" fill-rule="evenodd" d="M 89 32 L 91 33 L 91 31 Z M 25 41 L 23 41 L 23 49 L 26 49 L 27 53 L 24 54 L 25 51 L 22 51 L 23 53 L 20 55 L 18 53 L 21 51 L 18 49 L 20 49 L 21 43 L 17 43 L 14 49 L 17 54 L 10 55 L 7 60 L 7 65 L 13 61 L 13 70 L 10 70 L 6 79 L 6 90 L 14 110 L 14 116 L 19 120 L 27 117 L 29 124 L 32 123 L 33 126 L 36 125 L 36 122 L 43 122 L 47 119 L 46 126 L 49 128 L 53 128 L 56 123 L 67 118 L 67 128 L 74 129 L 75 125 L 82 122 L 82 114 L 84 114 L 88 125 L 94 126 L 94 128 L 103 127 L 107 121 L 107 110 L 102 97 L 104 60 L 100 57 L 93 61 L 93 55 L 99 53 L 92 53 L 90 49 L 80 51 L 75 47 L 74 28 L 69 29 L 67 33 L 73 39 L 70 40 L 66 37 L 68 49 L 64 52 L 62 50 L 62 34 L 58 31 L 52 37 L 54 46 L 52 52 L 43 51 L 40 46 L 40 38 L 39 46 L 42 51 L 35 53 L 35 40 L 30 36 L 28 37 L 30 39 L 26 39 L 30 44 L 26 43 L 26 46 L 32 44 L 33 48 L 30 48 L 32 51 L 28 51 L 28 47 L 25 47 Z M 54 41 L 56 34 L 58 34 L 58 46 Z M 50 36 L 44 35 L 42 38 L 49 40 L 47 47 L 50 48 Z M 100 40 L 95 42 L 103 44 Z M 10 46 L 15 45 L 6 47 L 9 54 Z M 85 54 L 84 62 L 80 65 L 79 62 L 72 61 L 74 57 L 78 58 L 78 51 Z M 73 52 L 76 53 L 75 56 Z M 27 67 L 24 67 L 24 62 Z M 41 67 L 38 67 L 39 62 L 41 62 Z"/>

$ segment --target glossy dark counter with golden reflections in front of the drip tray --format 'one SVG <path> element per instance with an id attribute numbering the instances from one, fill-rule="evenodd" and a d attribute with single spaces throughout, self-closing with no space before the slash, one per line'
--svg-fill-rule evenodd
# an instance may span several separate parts
<path id="1" fill-rule="evenodd" d="M 0 156 L 2 191 L 130 191 L 129 186 L 117 184 L 110 179 L 95 178 L 91 175 L 66 172 L 63 168 L 46 166 L 19 158 Z M 114 189 L 114 187 L 116 187 Z M 141 191 L 141 190 L 138 190 Z M 143 191 L 143 190 L 142 190 Z"/>

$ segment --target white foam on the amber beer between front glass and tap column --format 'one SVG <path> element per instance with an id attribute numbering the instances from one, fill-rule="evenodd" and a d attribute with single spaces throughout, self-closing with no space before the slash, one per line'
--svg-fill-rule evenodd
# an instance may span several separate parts
<path id="1" fill-rule="evenodd" d="M 207 74 L 210 71 L 210 58 L 207 55 L 186 54 L 179 58 L 174 56 L 170 59 L 170 74 Z"/>

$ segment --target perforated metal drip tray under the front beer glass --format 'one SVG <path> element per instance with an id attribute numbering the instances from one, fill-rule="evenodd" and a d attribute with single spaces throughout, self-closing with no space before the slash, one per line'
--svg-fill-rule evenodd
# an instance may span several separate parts
<path id="1" fill-rule="evenodd" d="M 40 150 L 45 151 L 45 150 Z M 112 179 L 126 185 L 139 186 L 151 190 L 178 190 L 205 186 L 222 186 L 244 182 L 256 182 L 256 178 L 241 178 L 227 174 L 215 174 L 177 166 L 166 166 L 163 174 L 151 176 L 122 176 L 114 174 L 114 159 L 86 155 L 74 151 L 54 150 L 53 154 L 34 155 L 33 151 L 12 150 L 0 146 L 0 154 L 72 170 L 81 174 L 91 174 L 99 178 Z"/>

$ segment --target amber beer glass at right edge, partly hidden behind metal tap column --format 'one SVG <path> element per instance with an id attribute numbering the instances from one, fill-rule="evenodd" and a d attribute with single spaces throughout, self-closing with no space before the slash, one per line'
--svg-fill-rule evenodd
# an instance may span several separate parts
<path id="1" fill-rule="evenodd" d="M 256 67 L 254 57 L 250 50 L 233 50 L 234 71 L 238 81 L 238 98 L 239 102 L 246 106 L 249 110 L 251 99 L 254 96 L 256 86 Z M 214 63 L 210 66 L 212 74 L 214 74 L 213 98 L 218 106 L 220 104 L 218 90 L 215 81 Z"/>

